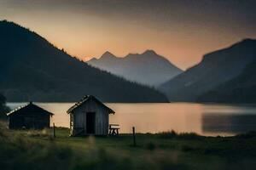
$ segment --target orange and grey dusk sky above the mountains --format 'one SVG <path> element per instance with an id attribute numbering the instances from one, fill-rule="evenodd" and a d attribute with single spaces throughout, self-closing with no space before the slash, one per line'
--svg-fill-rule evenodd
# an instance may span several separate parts
<path id="1" fill-rule="evenodd" d="M 256 38 L 255 0 L 0 0 L 0 20 L 83 60 L 153 49 L 183 70 L 203 54 Z"/>

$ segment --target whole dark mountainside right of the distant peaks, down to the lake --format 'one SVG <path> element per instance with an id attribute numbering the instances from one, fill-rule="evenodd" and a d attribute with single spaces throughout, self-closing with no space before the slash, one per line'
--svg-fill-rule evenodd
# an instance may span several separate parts
<path id="1" fill-rule="evenodd" d="M 247 102 L 250 90 L 255 93 L 255 59 L 256 40 L 244 39 L 204 55 L 198 65 L 161 84 L 159 89 L 171 101 Z M 255 102 L 255 97 L 250 97 L 253 99 Z"/>

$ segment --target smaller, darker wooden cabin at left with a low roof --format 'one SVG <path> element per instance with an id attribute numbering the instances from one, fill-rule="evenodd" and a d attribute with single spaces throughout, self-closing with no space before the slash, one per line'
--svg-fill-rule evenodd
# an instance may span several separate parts
<path id="1" fill-rule="evenodd" d="M 7 114 L 9 116 L 10 129 L 49 128 L 50 117 L 53 115 L 53 113 L 45 111 L 38 105 L 32 104 L 32 102 L 20 106 Z"/>

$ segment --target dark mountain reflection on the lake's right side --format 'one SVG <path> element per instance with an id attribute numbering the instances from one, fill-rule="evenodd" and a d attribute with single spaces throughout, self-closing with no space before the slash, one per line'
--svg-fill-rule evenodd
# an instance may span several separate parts
<path id="1" fill-rule="evenodd" d="M 243 133 L 256 131 L 256 115 L 247 114 L 202 114 L 203 133 Z"/>

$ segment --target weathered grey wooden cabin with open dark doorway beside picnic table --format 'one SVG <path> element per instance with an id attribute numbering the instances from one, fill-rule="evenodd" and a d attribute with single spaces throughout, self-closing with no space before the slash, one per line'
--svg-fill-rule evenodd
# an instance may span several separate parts
<path id="1" fill-rule="evenodd" d="M 114 111 L 94 96 L 86 95 L 67 114 L 70 115 L 71 136 L 108 135 L 108 115 Z"/>

